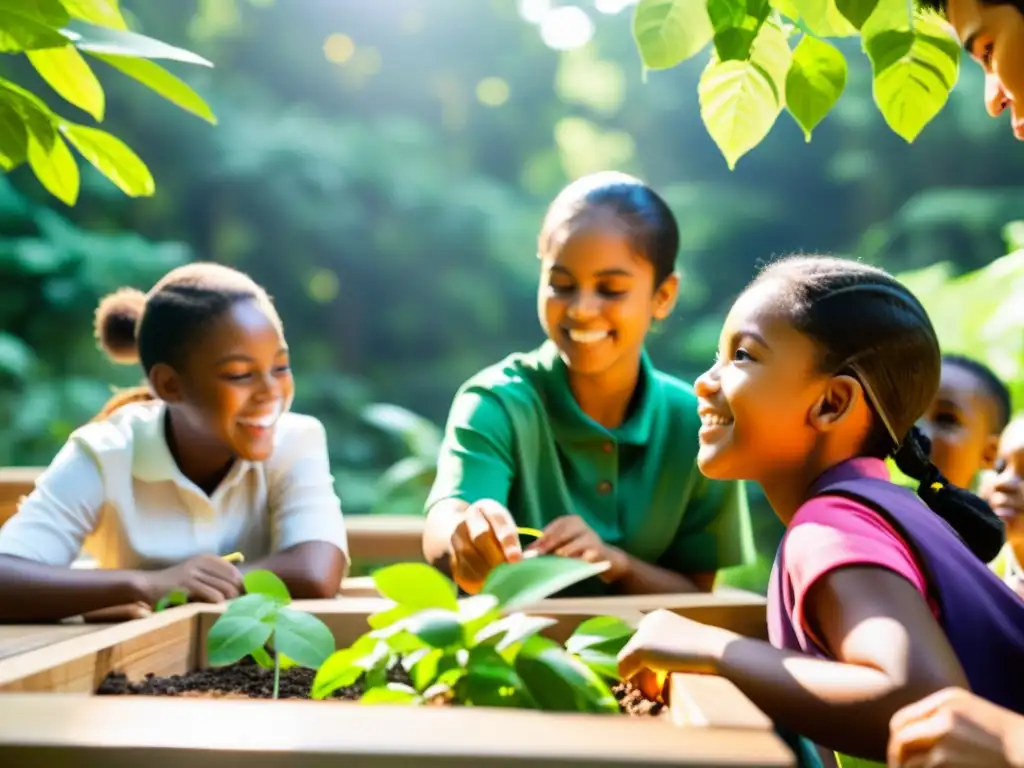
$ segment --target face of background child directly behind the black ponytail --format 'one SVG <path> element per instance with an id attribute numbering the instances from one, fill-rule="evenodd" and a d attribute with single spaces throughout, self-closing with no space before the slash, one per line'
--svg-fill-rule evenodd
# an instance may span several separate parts
<path id="1" fill-rule="evenodd" d="M 939 391 L 919 427 L 932 441 L 932 463 L 953 485 L 970 488 L 992 466 L 998 434 L 995 403 L 984 384 L 956 364 L 942 364 Z"/>

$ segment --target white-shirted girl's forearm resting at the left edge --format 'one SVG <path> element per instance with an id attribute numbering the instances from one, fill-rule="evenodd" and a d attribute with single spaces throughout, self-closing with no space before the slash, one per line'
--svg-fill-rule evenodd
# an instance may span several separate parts
<path id="1" fill-rule="evenodd" d="M 76 569 L 0 555 L 0 622 L 56 622 L 148 601 L 137 570 Z"/>

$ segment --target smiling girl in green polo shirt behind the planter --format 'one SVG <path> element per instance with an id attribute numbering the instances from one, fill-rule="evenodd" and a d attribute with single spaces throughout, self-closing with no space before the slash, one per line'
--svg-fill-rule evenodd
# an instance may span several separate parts
<path id="1" fill-rule="evenodd" d="M 424 553 L 477 592 L 497 564 L 556 554 L 609 564 L 583 594 L 710 590 L 752 559 L 739 482 L 696 468 L 696 398 L 644 344 L 679 291 L 679 230 L 643 182 L 566 187 L 541 229 L 547 341 L 481 371 L 453 402 Z M 540 532 L 523 550 L 520 528 Z"/>

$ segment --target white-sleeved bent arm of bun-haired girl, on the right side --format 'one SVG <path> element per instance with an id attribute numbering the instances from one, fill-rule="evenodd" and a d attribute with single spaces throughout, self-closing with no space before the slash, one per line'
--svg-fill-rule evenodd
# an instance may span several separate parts
<path id="1" fill-rule="evenodd" d="M 327 431 L 309 416 L 298 417 L 289 429 L 269 474 L 271 552 L 243 569 L 273 571 L 296 599 L 336 597 L 348 571 L 348 535 Z"/>

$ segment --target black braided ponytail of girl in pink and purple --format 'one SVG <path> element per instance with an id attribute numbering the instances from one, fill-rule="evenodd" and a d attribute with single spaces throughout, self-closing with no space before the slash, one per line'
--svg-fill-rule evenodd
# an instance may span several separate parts
<path id="1" fill-rule="evenodd" d="M 979 559 L 989 562 L 1006 540 L 1002 521 L 984 500 L 950 485 L 929 459 L 931 451 L 928 437 L 918 427 L 911 427 L 893 459 L 903 474 L 921 483 L 918 496 L 922 501 L 952 526 Z"/>

